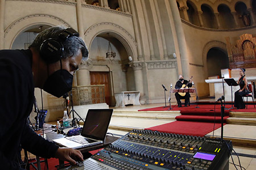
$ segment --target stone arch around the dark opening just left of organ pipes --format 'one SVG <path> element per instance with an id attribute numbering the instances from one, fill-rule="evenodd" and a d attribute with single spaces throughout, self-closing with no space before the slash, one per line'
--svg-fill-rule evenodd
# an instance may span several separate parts
<path id="1" fill-rule="evenodd" d="M 204 45 L 204 48 L 202 51 L 202 61 L 203 61 L 203 65 L 204 65 L 204 71 L 206 73 L 205 75 L 208 75 L 207 54 L 208 54 L 209 50 L 212 48 L 220 48 L 220 49 L 224 50 L 224 52 L 228 53 L 226 50 L 226 44 L 224 42 L 221 42 L 221 41 L 207 42 L 207 44 Z M 205 78 L 205 79 L 207 79 L 207 78 Z"/>

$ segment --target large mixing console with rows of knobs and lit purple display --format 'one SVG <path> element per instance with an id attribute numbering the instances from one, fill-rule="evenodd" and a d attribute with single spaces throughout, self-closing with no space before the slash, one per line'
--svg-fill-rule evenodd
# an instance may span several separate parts
<path id="1" fill-rule="evenodd" d="M 229 146 L 226 145 L 229 144 Z M 228 169 L 231 141 L 133 130 L 66 169 Z"/>

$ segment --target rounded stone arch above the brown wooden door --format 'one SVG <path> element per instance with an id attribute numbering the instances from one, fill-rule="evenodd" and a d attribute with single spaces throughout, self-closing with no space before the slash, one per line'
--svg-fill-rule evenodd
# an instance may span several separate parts
<path id="1" fill-rule="evenodd" d="M 104 32 L 109 32 L 109 35 L 122 42 L 128 56 L 133 57 L 134 61 L 137 61 L 137 43 L 135 42 L 134 38 L 124 28 L 113 23 L 94 24 L 85 31 L 84 39 L 88 49 L 90 49 L 92 41 L 95 39 L 95 37 Z"/>

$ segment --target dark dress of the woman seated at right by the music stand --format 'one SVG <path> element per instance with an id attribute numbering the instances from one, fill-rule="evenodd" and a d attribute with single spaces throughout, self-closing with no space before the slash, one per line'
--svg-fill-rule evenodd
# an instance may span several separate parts
<path id="1" fill-rule="evenodd" d="M 241 76 L 240 79 L 238 80 L 238 84 L 240 86 L 240 90 L 245 87 L 245 75 Z M 237 109 L 244 109 L 245 108 L 245 103 L 243 102 L 243 97 L 247 94 L 249 94 L 247 88 L 245 90 L 239 92 L 240 90 L 235 92 L 235 97 L 234 97 L 234 107 Z"/>

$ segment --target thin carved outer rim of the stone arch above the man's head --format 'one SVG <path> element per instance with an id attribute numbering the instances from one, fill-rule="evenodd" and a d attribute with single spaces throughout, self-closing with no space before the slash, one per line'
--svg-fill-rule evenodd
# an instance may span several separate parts
<path id="1" fill-rule="evenodd" d="M 52 19 L 55 19 L 61 23 L 63 23 L 63 25 L 65 25 L 66 27 L 71 27 L 68 23 L 64 22 L 64 20 L 60 19 L 60 18 L 57 18 L 56 16 L 52 16 L 52 15 L 46 15 L 46 14 L 34 14 L 34 15 L 27 15 L 27 16 L 24 16 L 22 18 L 19 18 L 17 20 L 15 20 L 13 23 L 11 23 L 9 25 L 9 27 L 6 28 L 5 30 L 5 36 L 6 34 L 11 30 L 11 28 L 13 28 L 16 24 L 22 22 L 23 20 L 26 20 L 28 18 L 34 18 L 34 17 L 46 17 L 46 18 L 52 18 Z"/>

